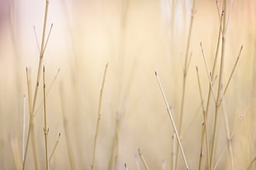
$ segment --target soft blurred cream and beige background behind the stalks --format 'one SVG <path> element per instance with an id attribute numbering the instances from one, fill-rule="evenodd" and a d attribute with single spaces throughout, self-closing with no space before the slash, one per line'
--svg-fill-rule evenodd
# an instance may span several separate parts
<path id="1" fill-rule="evenodd" d="M 220 8 L 221 4 L 222 1 L 219 2 Z M 225 96 L 225 110 L 230 131 L 234 131 L 240 122 L 232 146 L 236 168 L 244 169 L 255 156 L 256 2 L 228 1 L 228 7 L 231 4 L 224 84 L 230 76 L 240 46 L 244 45 L 244 49 Z M 136 161 L 140 163 L 137 152 L 140 148 L 151 169 L 161 168 L 163 162 L 167 169 L 171 169 L 173 126 L 154 71 L 159 73 L 173 117 L 178 123 L 191 8 L 192 2 L 189 0 L 50 1 L 47 30 L 50 30 L 51 23 L 54 26 L 44 58 L 47 87 L 54 82 L 47 94 L 50 152 L 61 133 L 50 163 L 51 169 L 70 169 L 64 115 L 76 167 L 90 168 L 99 92 L 107 63 L 96 168 L 109 169 L 111 154 L 118 148 L 116 169 L 122 169 L 124 163 L 130 169 L 135 169 Z M 191 169 L 198 167 L 203 122 L 199 110 L 201 100 L 196 66 L 199 68 L 205 100 L 208 90 L 199 44 L 203 44 L 211 68 L 219 30 L 216 1 L 197 0 L 196 10 L 189 48 L 192 59 L 187 74 L 182 141 Z M 31 70 L 33 94 L 39 61 L 33 27 L 40 43 L 44 12 L 43 0 L 2 0 L 0 4 L 1 169 L 14 169 L 14 158 L 21 157 L 21 154 L 13 154 L 13 144 L 17 144 L 14 151 L 21 153 L 24 94 L 26 133 L 29 121 L 26 67 Z M 41 102 L 40 85 L 38 107 Z M 243 114 L 244 118 L 241 119 Z M 220 112 L 219 118 L 216 158 L 226 142 L 223 112 Z M 208 119 L 210 136 L 213 119 L 214 103 L 211 103 Z M 119 126 L 116 126 L 116 121 Z M 35 126 L 40 168 L 43 169 L 45 143 L 42 108 L 36 114 Z M 115 133 L 119 140 L 113 145 Z M 30 145 L 27 169 L 35 168 L 32 155 Z M 229 160 L 226 149 L 217 169 L 230 169 Z M 141 163 L 140 167 L 143 169 Z M 179 168 L 185 168 L 182 157 Z"/>

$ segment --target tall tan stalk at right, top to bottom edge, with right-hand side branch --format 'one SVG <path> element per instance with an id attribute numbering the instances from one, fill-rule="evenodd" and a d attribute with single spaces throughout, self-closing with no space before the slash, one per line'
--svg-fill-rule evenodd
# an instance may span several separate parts
<path id="1" fill-rule="evenodd" d="M 224 20 L 223 20 L 223 30 L 225 30 L 225 21 L 226 21 L 226 0 L 223 1 L 223 11 L 224 11 Z M 216 136 L 217 136 L 217 122 L 218 115 L 220 112 L 221 98 L 223 95 L 223 72 L 224 72 L 224 58 L 225 58 L 225 32 L 222 34 L 222 47 L 221 47 L 221 57 L 220 57 L 220 76 L 219 76 L 219 85 L 218 85 L 218 94 L 216 100 L 216 113 L 214 119 L 213 135 L 212 135 L 212 145 L 211 145 L 211 162 L 210 169 L 213 168 L 215 161 L 216 153 Z"/>

